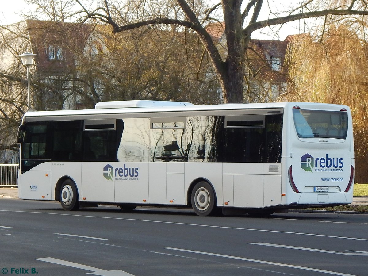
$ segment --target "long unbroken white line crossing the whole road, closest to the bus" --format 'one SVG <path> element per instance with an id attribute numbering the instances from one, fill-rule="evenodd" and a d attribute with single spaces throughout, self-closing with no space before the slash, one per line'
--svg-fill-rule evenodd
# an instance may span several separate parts
<path id="1" fill-rule="evenodd" d="M 18 213 L 36 213 L 36 214 L 45 214 L 45 215 L 58 215 L 58 216 L 91 217 L 91 218 L 96 218 L 96 219 L 117 219 L 117 220 L 127 220 L 127 221 L 135 221 L 135 222 L 167 223 L 167 224 L 209 227 L 209 228 L 218 228 L 218 229 L 259 231 L 259 232 L 266 232 L 266 233 L 282 233 L 282 234 L 294 234 L 294 235 L 313 236 L 313 237 L 341 238 L 341 239 L 346 239 L 346 240 L 368 241 L 367 238 L 351 238 L 351 237 L 329 236 L 329 235 L 321 235 L 321 234 L 309 234 L 309 233 L 288 232 L 288 231 L 251 229 L 251 228 L 240 228 L 240 227 L 229 227 L 229 226 L 215 226 L 215 225 L 204 225 L 204 224 L 183 223 L 183 222 L 164 222 L 164 221 L 159 221 L 159 220 L 126 219 L 126 218 L 123 218 L 123 217 L 101 217 L 101 216 L 73 215 L 73 214 L 63 214 L 63 213 L 32 212 L 32 211 L 15 211 L 15 210 L 0 210 L 0 212 L 18 212 Z"/>

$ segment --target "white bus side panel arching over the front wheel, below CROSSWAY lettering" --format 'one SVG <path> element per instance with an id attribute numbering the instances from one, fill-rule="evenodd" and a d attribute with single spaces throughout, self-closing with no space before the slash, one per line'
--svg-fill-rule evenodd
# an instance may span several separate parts
<path id="1" fill-rule="evenodd" d="M 52 162 L 51 191 L 55 200 L 56 184 L 61 177 L 67 176 L 74 181 L 78 191 L 79 201 L 82 201 L 82 162 Z"/>

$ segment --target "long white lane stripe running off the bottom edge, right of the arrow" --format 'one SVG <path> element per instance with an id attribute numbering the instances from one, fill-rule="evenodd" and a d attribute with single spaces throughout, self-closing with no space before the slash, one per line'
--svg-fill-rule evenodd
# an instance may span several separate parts
<path id="1" fill-rule="evenodd" d="M 217 256 L 217 257 L 230 258 L 230 259 L 237 259 L 237 260 L 248 261 L 248 262 L 265 263 L 265 264 L 268 264 L 268 265 L 284 266 L 284 267 L 288 267 L 288 268 L 297 268 L 297 269 L 303 269 L 303 270 L 309 270 L 309 271 L 315 271 L 315 272 L 328 273 L 328 274 L 333 274 L 333 275 L 354 276 L 354 275 L 351 275 L 351 274 L 345 274 L 345 273 L 340 273 L 340 272 L 335 272 L 335 271 L 316 269 L 316 268 L 307 268 L 305 266 L 288 265 L 286 263 L 275 263 L 275 262 L 268 262 L 268 261 L 262 261 L 262 260 L 256 260 L 256 259 L 242 258 L 242 257 L 237 257 L 237 256 L 202 252 L 202 251 L 185 250 L 185 249 L 172 248 L 172 247 L 165 247 L 164 249 L 177 250 L 177 251 L 190 252 L 190 253 L 197 253 L 197 254 L 204 254 L 204 255 Z"/>

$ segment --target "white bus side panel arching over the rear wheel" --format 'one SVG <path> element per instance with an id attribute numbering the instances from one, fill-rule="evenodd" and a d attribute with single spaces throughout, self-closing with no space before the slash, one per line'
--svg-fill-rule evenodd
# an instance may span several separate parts
<path id="1" fill-rule="evenodd" d="M 215 189 L 217 206 L 223 206 L 222 163 L 185 163 L 185 195 L 190 184 L 198 178 L 204 178 L 212 184 Z"/>

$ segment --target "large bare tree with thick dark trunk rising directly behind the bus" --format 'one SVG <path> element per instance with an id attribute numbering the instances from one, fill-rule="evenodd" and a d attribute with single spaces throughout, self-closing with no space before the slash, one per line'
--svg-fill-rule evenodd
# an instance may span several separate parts
<path id="1" fill-rule="evenodd" d="M 151 1 L 128 1 L 123 6 L 123 1 L 101 1 L 102 6 L 92 10 L 85 6 L 82 0 L 78 2 L 86 13 L 86 18 L 98 18 L 112 26 L 113 33 L 124 32 L 130 29 L 149 25 L 176 25 L 192 29 L 203 43 L 212 63 L 212 66 L 219 79 L 224 102 L 243 102 L 244 76 L 248 69 L 254 73 L 253 68 L 248 63 L 246 53 L 250 51 L 250 41 L 252 32 L 269 26 L 282 25 L 287 22 L 301 20 L 312 17 L 326 17 L 327 15 L 367 15 L 367 3 L 364 0 L 332 1 L 328 6 L 323 2 L 314 0 L 303 0 L 294 7 L 287 8 L 282 12 L 282 8 L 275 7 L 269 12 L 269 17 L 260 20 L 263 10 L 273 6 L 273 1 L 263 0 L 222 0 L 212 8 L 208 8 L 204 13 L 203 5 L 198 5 L 197 1 L 176 0 L 176 3 L 169 1 L 171 12 L 166 14 L 149 13 Z M 167 2 L 165 2 L 167 3 Z M 319 5 L 320 4 L 320 5 Z M 174 7 L 180 7 L 180 10 Z M 319 7 L 321 6 L 321 7 Z M 132 10 L 134 9 L 135 12 Z M 216 17 L 217 12 L 217 17 Z M 218 14 L 220 16 L 218 16 Z M 134 23 L 128 19 L 128 15 L 137 14 Z M 206 25 L 213 20 L 223 20 L 225 23 L 226 36 L 226 57 L 223 59 L 216 47 L 214 40 L 206 30 Z"/>

